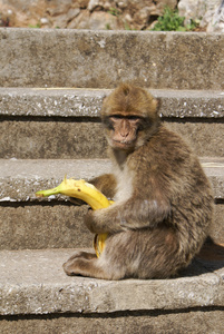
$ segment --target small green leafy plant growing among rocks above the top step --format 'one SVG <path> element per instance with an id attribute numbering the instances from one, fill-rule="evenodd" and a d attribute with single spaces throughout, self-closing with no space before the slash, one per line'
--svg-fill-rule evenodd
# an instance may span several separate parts
<path id="1" fill-rule="evenodd" d="M 186 31 L 189 30 L 184 27 L 184 17 L 178 16 L 177 10 L 173 10 L 169 7 L 164 8 L 163 17 L 158 18 L 158 22 L 152 30 L 154 31 Z M 192 30 L 192 29 L 191 29 Z"/>

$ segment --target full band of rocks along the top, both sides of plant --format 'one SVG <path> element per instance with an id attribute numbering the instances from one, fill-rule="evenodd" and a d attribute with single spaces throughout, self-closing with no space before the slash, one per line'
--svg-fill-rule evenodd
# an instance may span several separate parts
<path id="1" fill-rule="evenodd" d="M 0 0 L 0 27 L 145 30 L 177 2 L 186 24 L 201 20 L 208 32 L 224 31 L 223 0 Z"/>

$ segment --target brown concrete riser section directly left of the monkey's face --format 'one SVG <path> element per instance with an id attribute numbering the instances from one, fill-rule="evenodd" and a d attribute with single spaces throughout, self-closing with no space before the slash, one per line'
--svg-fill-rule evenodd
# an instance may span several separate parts
<path id="1" fill-rule="evenodd" d="M 101 124 L 72 120 L 3 120 L 0 122 L 0 158 L 105 158 Z"/>

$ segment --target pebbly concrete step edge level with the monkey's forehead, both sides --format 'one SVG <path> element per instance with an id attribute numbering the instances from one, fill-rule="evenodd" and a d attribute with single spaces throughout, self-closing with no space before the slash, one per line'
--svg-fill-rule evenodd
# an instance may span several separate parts
<path id="1" fill-rule="evenodd" d="M 162 117 L 224 118 L 224 91 L 149 89 Z M 99 117 L 110 89 L 0 88 L 0 115 Z"/>

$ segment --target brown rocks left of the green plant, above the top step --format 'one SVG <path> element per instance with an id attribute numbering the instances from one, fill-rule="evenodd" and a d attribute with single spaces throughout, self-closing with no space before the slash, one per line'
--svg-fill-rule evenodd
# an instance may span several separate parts
<path id="1" fill-rule="evenodd" d="M 0 26 L 147 29 L 165 6 L 175 8 L 177 0 L 0 0 Z"/>

